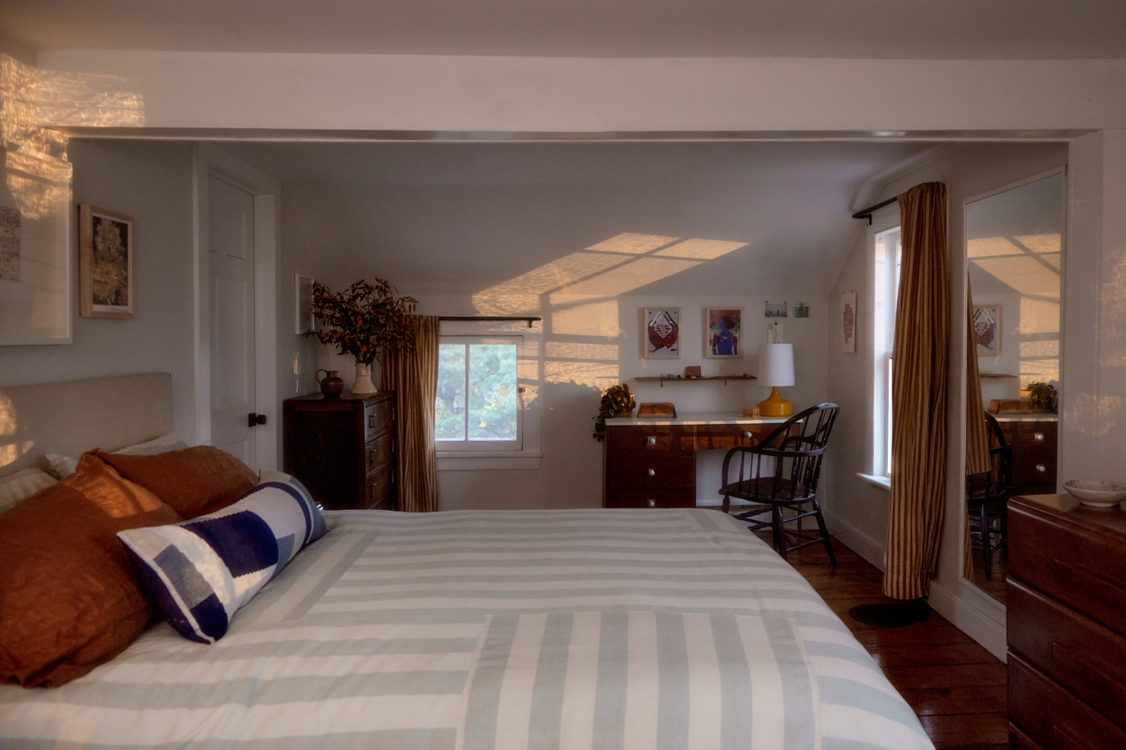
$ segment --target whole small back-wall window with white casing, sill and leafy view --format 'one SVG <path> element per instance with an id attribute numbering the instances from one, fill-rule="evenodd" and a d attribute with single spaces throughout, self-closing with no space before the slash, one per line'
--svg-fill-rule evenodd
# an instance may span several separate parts
<path id="1" fill-rule="evenodd" d="M 542 329 L 444 320 L 438 338 L 438 470 L 538 469 Z"/>

